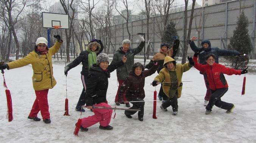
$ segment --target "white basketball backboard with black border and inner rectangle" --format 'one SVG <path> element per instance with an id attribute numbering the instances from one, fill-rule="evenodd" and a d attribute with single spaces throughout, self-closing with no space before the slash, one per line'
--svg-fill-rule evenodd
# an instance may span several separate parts
<path id="1" fill-rule="evenodd" d="M 69 16 L 67 14 L 42 12 L 42 18 L 44 28 L 54 28 L 54 26 L 61 26 L 59 29 L 69 29 Z"/>

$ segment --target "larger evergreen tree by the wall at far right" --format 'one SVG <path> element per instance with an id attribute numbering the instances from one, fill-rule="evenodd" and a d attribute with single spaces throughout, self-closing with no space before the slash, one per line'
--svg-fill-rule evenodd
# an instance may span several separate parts
<path id="1" fill-rule="evenodd" d="M 233 37 L 230 38 L 230 43 L 228 44 L 229 50 L 236 50 L 239 53 L 248 55 L 251 52 L 251 40 L 248 34 L 248 18 L 245 16 L 244 11 L 240 14 L 237 21 L 237 27 L 234 30 Z M 231 67 L 235 69 L 243 69 L 247 64 L 248 58 L 245 56 L 239 57 L 226 57 L 227 61 L 231 63 Z"/>

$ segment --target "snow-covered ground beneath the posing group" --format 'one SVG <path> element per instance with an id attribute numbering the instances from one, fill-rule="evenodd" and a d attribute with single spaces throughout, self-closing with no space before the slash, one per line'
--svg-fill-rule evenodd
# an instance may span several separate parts
<path id="1" fill-rule="evenodd" d="M 141 61 L 142 62 L 142 61 Z M 172 142 L 256 142 L 256 75 L 247 74 L 245 95 L 241 96 L 242 81 L 244 76 L 225 75 L 229 84 L 228 92 L 222 97 L 223 101 L 234 103 L 233 113 L 226 114 L 225 110 L 214 106 L 212 114 L 206 115 L 203 106 L 206 88 L 203 76 L 193 67 L 183 74 L 183 92 L 178 99 L 178 116 L 172 116 L 172 108 L 163 112 L 157 101 L 156 116 L 152 118 L 153 102 L 145 102 L 144 121 L 138 120 L 137 114 L 132 119 L 124 115 L 124 111 L 117 110 L 116 118 L 110 125 L 112 131 L 99 129 L 99 123 L 89 127 L 88 132 L 79 132 L 79 137 L 73 135 L 75 123 L 80 117 L 80 112 L 75 111 L 76 103 L 82 91 L 80 71 L 78 65 L 69 71 L 67 76 L 67 98 L 69 99 L 69 114 L 63 116 L 66 99 L 66 77 L 64 76 L 63 62 L 53 64 L 54 77 L 57 85 L 49 90 L 48 102 L 52 123 L 45 124 L 42 120 L 34 122 L 27 119 L 35 94 L 31 77 L 31 65 L 5 71 L 6 84 L 11 91 L 13 117 L 12 122 L 6 119 L 5 88 L 0 88 L 0 142 L 1 143 L 27 143 L 27 142 L 90 142 L 90 143 L 172 143 Z M 145 80 L 145 100 L 153 100 L 155 87 L 150 86 L 154 75 Z M 0 77 L 3 81 L 3 77 Z M 192 82 L 186 82 L 192 81 Z M 3 83 L 3 82 L 2 82 Z M 107 99 L 114 107 L 117 91 L 116 71 L 111 73 Z M 160 86 L 156 87 L 159 91 Z M 125 105 L 118 106 L 126 108 Z M 91 116 L 93 113 L 86 109 L 82 117 Z M 41 118 L 41 114 L 38 114 Z"/>

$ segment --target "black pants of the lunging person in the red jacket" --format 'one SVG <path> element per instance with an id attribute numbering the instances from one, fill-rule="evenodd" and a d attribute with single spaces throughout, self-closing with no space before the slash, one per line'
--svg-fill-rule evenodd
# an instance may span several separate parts
<path id="1" fill-rule="evenodd" d="M 208 105 L 206 106 L 206 110 L 212 111 L 212 107 L 214 105 L 225 110 L 230 110 L 233 107 L 233 104 L 224 102 L 220 99 L 227 91 L 228 91 L 228 88 L 211 90 L 212 96 L 209 100 Z"/>

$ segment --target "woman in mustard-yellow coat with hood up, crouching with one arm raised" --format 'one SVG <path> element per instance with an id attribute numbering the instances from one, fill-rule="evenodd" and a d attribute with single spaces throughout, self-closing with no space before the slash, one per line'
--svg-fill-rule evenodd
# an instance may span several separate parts
<path id="1" fill-rule="evenodd" d="M 172 115 L 178 115 L 178 98 L 181 96 L 182 90 L 182 75 L 183 72 L 188 71 L 193 67 L 193 60 L 189 59 L 189 62 L 185 64 L 176 64 L 176 61 L 170 56 L 166 56 L 164 59 L 164 68 L 159 72 L 152 82 L 153 86 L 162 82 L 162 89 L 167 96 L 160 108 L 163 111 L 167 111 L 167 107 L 172 106 Z"/>

